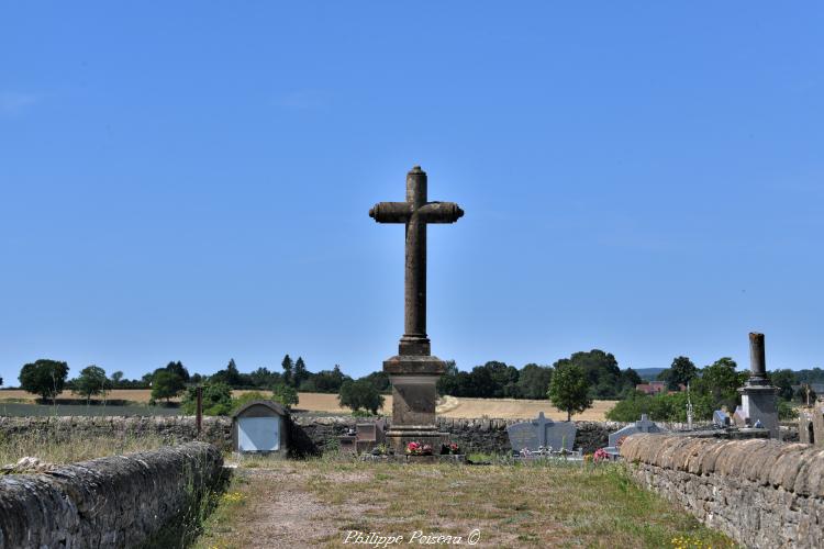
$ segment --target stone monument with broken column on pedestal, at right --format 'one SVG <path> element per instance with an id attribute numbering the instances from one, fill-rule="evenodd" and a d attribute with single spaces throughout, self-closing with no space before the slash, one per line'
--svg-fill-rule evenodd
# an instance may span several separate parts
<path id="1" fill-rule="evenodd" d="M 760 423 L 770 432 L 770 438 L 778 438 L 778 389 L 767 379 L 764 334 L 749 334 L 749 379 L 738 392 L 743 416 L 753 426 Z"/>

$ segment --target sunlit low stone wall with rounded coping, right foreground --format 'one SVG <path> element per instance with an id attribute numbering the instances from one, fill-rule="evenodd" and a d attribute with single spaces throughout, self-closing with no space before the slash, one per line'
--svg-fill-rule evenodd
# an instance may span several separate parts
<path id="1" fill-rule="evenodd" d="M 777 440 L 633 435 L 631 474 L 747 547 L 824 547 L 824 451 Z"/>

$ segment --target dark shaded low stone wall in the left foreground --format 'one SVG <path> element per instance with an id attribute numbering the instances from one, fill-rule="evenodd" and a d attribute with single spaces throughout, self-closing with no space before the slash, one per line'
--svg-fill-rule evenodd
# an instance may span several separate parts
<path id="1" fill-rule="evenodd" d="M 152 545 L 220 488 L 222 467 L 216 448 L 189 442 L 2 477 L 0 547 Z"/>

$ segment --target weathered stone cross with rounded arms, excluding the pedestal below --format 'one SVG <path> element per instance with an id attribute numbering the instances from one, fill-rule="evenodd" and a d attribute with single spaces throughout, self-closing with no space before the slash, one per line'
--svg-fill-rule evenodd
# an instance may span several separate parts
<path id="1" fill-rule="evenodd" d="M 407 224 L 404 334 L 400 356 L 430 356 L 426 335 L 426 224 L 455 223 L 464 211 L 454 202 L 427 202 L 426 172 L 415 166 L 407 175 L 405 202 L 379 202 L 369 210 L 377 223 Z"/>

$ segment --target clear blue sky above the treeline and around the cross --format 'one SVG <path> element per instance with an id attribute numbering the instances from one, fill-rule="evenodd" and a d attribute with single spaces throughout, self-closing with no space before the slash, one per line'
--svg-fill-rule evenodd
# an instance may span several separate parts
<path id="1" fill-rule="evenodd" d="M 359 376 L 420 164 L 433 354 L 824 366 L 820 2 L 7 2 L 0 376 Z"/>

